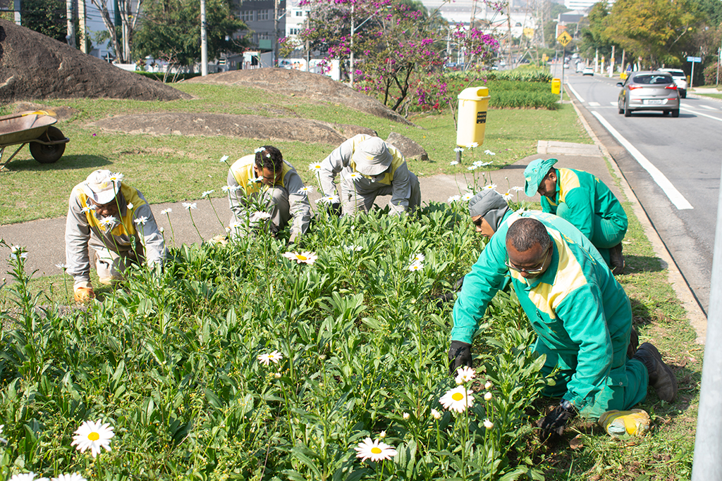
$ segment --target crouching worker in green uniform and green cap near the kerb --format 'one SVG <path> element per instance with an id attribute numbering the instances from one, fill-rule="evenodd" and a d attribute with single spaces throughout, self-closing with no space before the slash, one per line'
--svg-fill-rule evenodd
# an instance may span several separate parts
<path id="1" fill-rule="evenodd" d="M 604 182 L 588 172 L 556 169 L 557 159 L 536 159 L 524 169 L 524 193 L 541 194 L 541 210 L 570 221 L 591 240 L 615 275 L 624 273 L 622 239 L 627 214 Z"/>

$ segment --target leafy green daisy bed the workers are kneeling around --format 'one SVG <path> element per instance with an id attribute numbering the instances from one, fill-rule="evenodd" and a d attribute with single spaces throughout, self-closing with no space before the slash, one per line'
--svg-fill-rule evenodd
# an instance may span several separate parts
<path id="1" fill-rule="evenodd" d="M 473 409 L 438 402 L 453 381 L 451 304 L 437 296 L 480 250 L 466 215 L 459 203 L 418 219 L 319 212 L 299 247 L 318 254 L 313 265 L 282 257 L 270 236 L 183 245 L 162 273 L 136 268 L 87 310 L 38 309 L 17 257 L 14 305 L 0 311 L 2 476 L 539 479 L 523 449 L 544 380 L 516 299 L 495 301 L 479 338 L 487 374 L 471 385 Z M 418 254 L 423 267 L 409 270 Z M 264 366 L 273 351 L 282 358 Z M 116 436 L 92 460 L 70 443 L 97 419 Z M 356 459 L 381 431 L 393 462 Z"/>

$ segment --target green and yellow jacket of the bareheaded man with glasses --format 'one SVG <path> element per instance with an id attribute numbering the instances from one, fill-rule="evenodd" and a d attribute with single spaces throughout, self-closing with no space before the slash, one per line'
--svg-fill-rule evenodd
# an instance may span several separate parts
<path id="1" fill-rule="evenodd" d="M 522 217 L 541 221 L 554 243 L 549 268 L 529 280 L 505 265 L 506 233 Z M 591 242 L 549 213 L 513 213 L 492 236 L 464 278 L 453 307 L 452 340 L 471 343 L 507 273 L 539 340 L 562 358 L 560 365 L 574 370 L 565 400 L 582 409 L 604 386 L 619 381 L 632 328 L 630 301 Z"/>

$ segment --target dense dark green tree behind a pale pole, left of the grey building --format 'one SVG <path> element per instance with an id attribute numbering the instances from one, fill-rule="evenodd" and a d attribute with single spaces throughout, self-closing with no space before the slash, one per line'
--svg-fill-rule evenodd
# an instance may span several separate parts
<path id="1" fill-rule="evenodd" d="M 245 40 L 232 40 L 247 29 L 234 12 L 230 0 L 206 0 L 206 42 L 209 58 L 243 47 Z M 201 58 L 201 4 L 197 0 L 149 0 L 143 23 L 135 34 L 138 56 L 175 58 L 192 65 Z"/>

